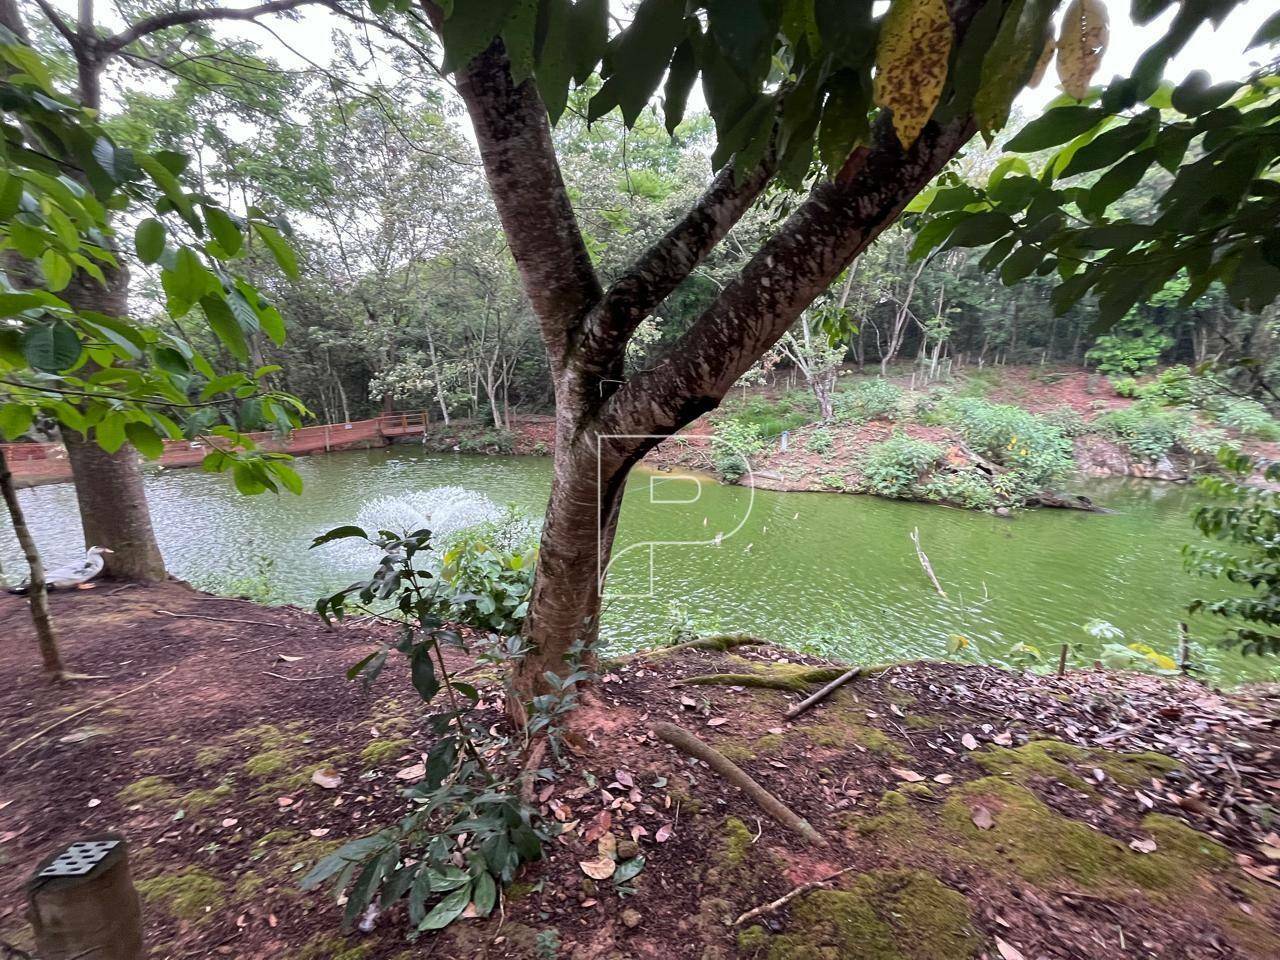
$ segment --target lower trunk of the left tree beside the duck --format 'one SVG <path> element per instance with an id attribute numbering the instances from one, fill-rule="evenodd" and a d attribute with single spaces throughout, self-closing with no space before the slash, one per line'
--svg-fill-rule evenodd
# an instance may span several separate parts
<path id="1" fill-rule="evenodd" d="M 115 580 L 156 584 L 165 579 L 142 486 L 138 454 L 129 445 L 108 453 L 70 430 L 63 433 L 76 477 L 86 547 L 108 547 L 105 575 Z"/>

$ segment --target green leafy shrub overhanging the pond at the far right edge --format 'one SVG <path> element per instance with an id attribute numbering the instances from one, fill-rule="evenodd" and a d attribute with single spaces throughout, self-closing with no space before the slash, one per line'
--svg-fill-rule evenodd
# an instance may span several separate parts
<path id="1" fill-rule="evenodd" d="M 1192 602 L 1192 613 L 1207 613 L 1228 623 L 1225 646 L 1245 654 L 1280 654 L 1280 493 L 1249 484 L 1258 463 L 1224 449 L 1219 453 L 1224 476 L 1202 476 L 1197 485 L 1213 502 L 1196 508 L 1192 522 L 1204 536 L 1226 547 L 1190 544 L 1183 548 L 1188 570 L 1203 577 L 1245 588 L 1245 595 Z M 1262 471 L 1268 483 L 1280 481 L 1280 463 Z"/>

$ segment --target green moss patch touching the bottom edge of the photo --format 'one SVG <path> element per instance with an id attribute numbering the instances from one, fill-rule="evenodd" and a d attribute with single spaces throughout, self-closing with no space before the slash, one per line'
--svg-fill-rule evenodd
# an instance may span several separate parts
<path id="1" fill-rule="evenodd" d="M 783 933 L 739 934 L 745 955 L 768 960 L 968 960 L 980 942 L 964 896 L 922 870 L 865 873 L 797 900 Z"/>

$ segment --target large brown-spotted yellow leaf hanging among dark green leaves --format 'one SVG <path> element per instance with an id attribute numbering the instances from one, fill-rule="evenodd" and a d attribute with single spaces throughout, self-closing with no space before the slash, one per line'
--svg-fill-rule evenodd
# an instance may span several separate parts
<path id="1" fill-rule="evenodd" d="M 893 0 L 876 46 L 876 105 L 908 150 L 942 96 L 954 31 L 945 0 Z"/>

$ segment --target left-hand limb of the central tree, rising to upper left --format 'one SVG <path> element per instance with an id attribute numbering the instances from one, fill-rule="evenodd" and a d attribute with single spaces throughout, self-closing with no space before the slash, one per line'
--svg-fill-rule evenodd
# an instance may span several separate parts
<path id="1" fill-rule="evenodd" d="M 440 9 L 422 0 L 436 31 Z M 564 188 L 547 108 L 532 81 L 516 86 L 502 42 L 457 72 L 525 296 L 559 383 L 571 339 L 603 293 Z"/>

